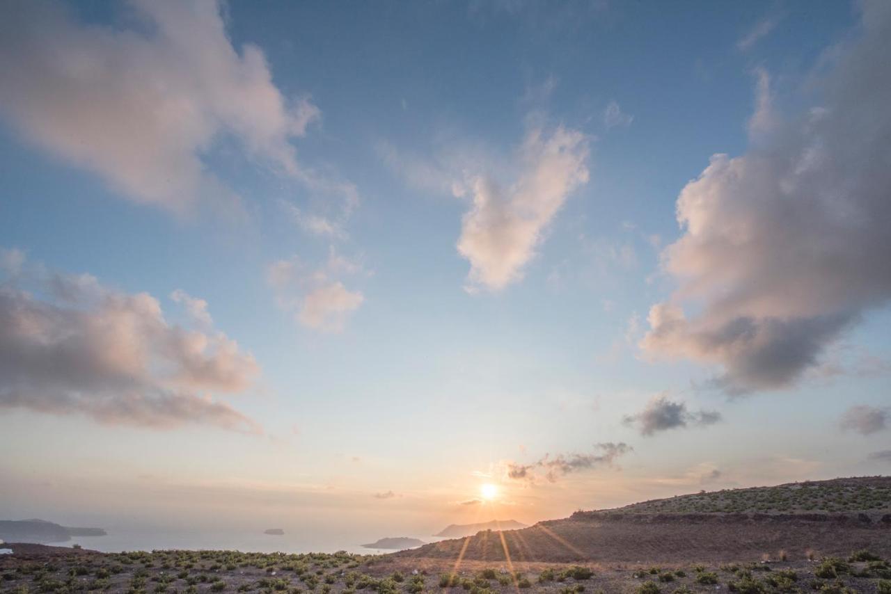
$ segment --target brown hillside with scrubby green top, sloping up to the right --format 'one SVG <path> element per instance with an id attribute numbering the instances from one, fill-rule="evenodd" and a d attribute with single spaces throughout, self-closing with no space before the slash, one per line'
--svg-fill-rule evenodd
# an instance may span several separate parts
<path id="1" fill-rule="evenodd" d="M 781 484 L 579 511 L 522 530 L 482 532 L 400 557 L 517 562 L 723 562 L 808 551 L 891 555 L 891 477 Z M 462 552 L 463 551 L 463 552 Z"/>

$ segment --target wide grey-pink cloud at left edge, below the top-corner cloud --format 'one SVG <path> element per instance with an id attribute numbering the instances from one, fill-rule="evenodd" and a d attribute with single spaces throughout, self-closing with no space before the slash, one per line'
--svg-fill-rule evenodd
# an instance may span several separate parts
<path id="1" fill-rule="evenodd" d="M 90 275 L 38 266 L 30 277 L 31 290 L 0 284 L 0 409 L 260 432 L 210 396 L 243 392 L 259 373 L 234 340 L 170 324 L 154 297 L 106 288 Z"/>

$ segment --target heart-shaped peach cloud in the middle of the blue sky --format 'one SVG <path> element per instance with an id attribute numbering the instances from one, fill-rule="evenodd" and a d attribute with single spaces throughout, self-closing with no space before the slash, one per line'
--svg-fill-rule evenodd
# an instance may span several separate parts
<path id="1" fill-rule="evenodd" d="M 462 218 L 458 252 L 470 261 L 470 288 L 503 289 L 519 281 L 543 232 L 569 194 L 588 182 L 588 142 L 562 126 L 531 130 L 519 151 L 521 173 L 508 188 L 478 175 L 473 207 Z"/>

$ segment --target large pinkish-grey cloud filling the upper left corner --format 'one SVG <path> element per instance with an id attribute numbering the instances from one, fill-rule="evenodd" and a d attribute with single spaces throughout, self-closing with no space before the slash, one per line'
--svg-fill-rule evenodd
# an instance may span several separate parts
<path id="1" fill-rule="evenodd" d="M 290 141 L 319 109 L 282 96 L 256 45 L 233 47 L 217 2 L 131 0 L 127 17 L 100 25 L 55 2 L 4 3 L 0 113 L 127 199 L 177 213 L 237 203 L 203 159 L 223 137 L 315 191 L 355 194 L 298 162 Z"/>

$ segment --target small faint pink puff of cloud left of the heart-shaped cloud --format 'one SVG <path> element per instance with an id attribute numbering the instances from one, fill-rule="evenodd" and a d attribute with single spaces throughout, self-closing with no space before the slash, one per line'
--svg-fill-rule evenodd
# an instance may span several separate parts
<path id="1" fill-rule="evenodd" d="M 270 264 L 266 280 L 282 310 L 294 313 L 303 326 L 322 332 L 340 332 L 349 316 L 364 302 L 361 291 L 348 290 L 338 274 L 356 274 L 361 267 L 330 251 L 322 267 L 311 269 L 297 256 Z"/>

